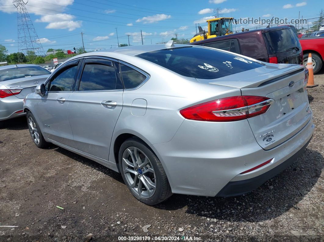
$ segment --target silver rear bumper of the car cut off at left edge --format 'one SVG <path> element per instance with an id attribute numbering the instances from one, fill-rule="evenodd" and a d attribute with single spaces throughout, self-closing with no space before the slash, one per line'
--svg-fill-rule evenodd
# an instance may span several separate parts
<path id="1" fill-rule="evenodd" d="M 0 98 L 0 121 L 26 115 L 24 112 L 15 113 L 23 109 L 23 101 L 15 96 Z"/>

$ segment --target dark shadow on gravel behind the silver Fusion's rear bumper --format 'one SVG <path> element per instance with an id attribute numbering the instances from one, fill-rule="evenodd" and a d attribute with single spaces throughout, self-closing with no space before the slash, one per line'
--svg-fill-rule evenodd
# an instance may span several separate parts
<path id="1" fill-rule="evenodd" d="M 306 149 L 286 170 L 257 190 L 234 197 L 202 197 L 174 194 L 155 205 L 157 209 L 177 210 L 187 206 L 186 213 L 210 219 L 259 222 L 280 216 L 298 203 L 316 184 L 324 163 L 323 156 Z M 309 203 L 309 202 L 307 202 Z"/>

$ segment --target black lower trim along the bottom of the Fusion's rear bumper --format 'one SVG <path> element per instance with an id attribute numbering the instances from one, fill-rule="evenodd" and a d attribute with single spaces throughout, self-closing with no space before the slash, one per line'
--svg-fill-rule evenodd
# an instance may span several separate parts
<path id="1" fill-rule="evenodd" d="M 313 137 L 313 136 L 312 136 Z M 285 170 L 289 165 L 291 165 L 299 155 L 301 155 L 308 143 L 311 141 L 312 137 L 307 141 L 307 143 L 293 156 L 288 158 L 286 161 L 281 163 L 280 165 L 277 165 L 274 167 L 272 170 L 263 173 L 259 176 L 242 180 L 242 181 L 234 181 L 234 182 L 229 182 L 226 184 L 226 186 L 219 192 L 217 193 L 216 196 L 221 196 L 221 197 L 227 197 L 227 196 L 237 196 L 237 195 L 242 195 L 248 192 L 251 192 L 255 189 L 257 189 L 260 185 L 271 179 L 272 177 L 276 176 L 277 174 L 281 173 L 283 170 Z"/>

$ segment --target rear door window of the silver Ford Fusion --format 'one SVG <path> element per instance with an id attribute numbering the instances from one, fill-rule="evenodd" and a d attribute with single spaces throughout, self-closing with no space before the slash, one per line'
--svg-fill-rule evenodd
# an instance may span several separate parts
<path id="1" fill-rule="evenodd" d="M 79 91 L 101 91 L 122 89 L 121 82 L 116 77 L 115 68 L 103 64 L 85 64 Z"/>

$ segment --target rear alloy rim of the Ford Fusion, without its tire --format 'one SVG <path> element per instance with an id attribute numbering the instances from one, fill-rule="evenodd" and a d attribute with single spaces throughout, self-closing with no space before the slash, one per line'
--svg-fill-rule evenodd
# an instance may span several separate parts
<path id="1" fill-rule="evenodd" d="M 131 189 L 143 198 L 154 195 L 156 177 L 154 168 L 145 153 L 136 147 L 128 147 L 122 155 L 122 169 Z"/>

